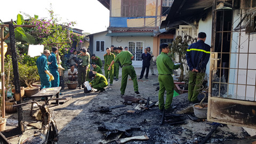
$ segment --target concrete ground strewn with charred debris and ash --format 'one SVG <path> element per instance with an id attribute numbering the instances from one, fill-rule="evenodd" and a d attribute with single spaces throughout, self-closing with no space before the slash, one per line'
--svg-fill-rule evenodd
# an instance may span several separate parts
<path id="1" fill-rule="evenodd" d="M 157 74 L 155 67 L 155 74 Z M 137 77 L 140 75 L 141 68 L 135 67 Z M 147 110 L 135 110 L 138 103 L 132 103 L 122 108 L 102 111 L 103 108 L 110 106 L 123 105 L 124 99 L 120 96 L 121 69 L 119 70 L 119 81 L 114 81 L 113 86 L 106 87 L 106 91 L 84 93 L 82 89 L 62 90 L 61 97 L 71 98 L 63 105 L 50 105 L 50 110 L 55 113 L 55 121 L 59 130 L 59 143 L 99 143 L 105 139 L 108 132 L 99 131 L 101 126 L 115 125 L 115 129 L 124 127 L 135 127 L 123 133 L 121 138 L 127 135 L 138 136 L 147 135 L 149 140 L 132 140 L 127 143 L 200 143 L 206 135 L 214 128 L 210 122 L 191 121 L 186 115 L 180 115 L 166 119 L 161 123 L 161 113 L 157 106 Z M 151 74 L 149 72 L 149 74 Z M 127 81 L 125 95 L 134 98 L 158 101 L 158 91 L 156 91 L 158 76 L 149 75 L 149 79 L 138 80 L 140 94 L 135 94 L 133 82 Z M 38 99 L 39 100 L 39 99 Z M 23 102 L 28 99 L 23 100 Z M 41 101 L 42 102 L 42 101 Z M 173 98 L 172 106 L 175 107 L 173 114 L 183 110 L 192 104 L 187 100 L 187 93 Z M 35 108 L 35 110 L 38 108 Z M 34 117 L 29 116 L 30 105 L 23 107 L 23 117 L 25 122 L 35 121 Z M 34 110 L 34 111 L 35 111 Z M 17 119 L 17 114 L 7 114 L 7 119 Z M 172 122 L 181 122 L 172 124 Z M 13 126 L 7 126 L 11 129 Z M 109 131 L 110 132 L 110 131 Z M 114 133 L 116 131 L 111 131 Z M 113 136 L 114 137 L 114 136 Z M 110 139 L 113 139 L 110 137 Z M 253 142 L 255 139 L 248 138 L 249 135 L 239 126 L 223 125 L 212 134 L 206 143 L 241 143 L 241 141 Z M 12 143 L 18 143 L 19 137 L 10 139 Z M 116 143 L 115 141 L 110 143 Z"/>

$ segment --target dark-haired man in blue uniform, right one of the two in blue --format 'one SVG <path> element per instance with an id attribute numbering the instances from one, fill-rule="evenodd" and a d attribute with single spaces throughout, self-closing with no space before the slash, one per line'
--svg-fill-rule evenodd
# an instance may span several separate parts
<path id="1" fill-rule="evenodd" d="M 51 81 L 51 87 L 58 87 L 60 85 L 60 74 L 59 74 L 59 66 L 57 64 L 57 58 L 56 58 L 56 54 L 58 52 L 58 48 L 57 47 L 52 47 L 52 53 L 48 58 L 48 61 L 51 62 L 51 64 L 49 65 L 49 69 L 51 74 L 54 77 L 54 80 Z"/>

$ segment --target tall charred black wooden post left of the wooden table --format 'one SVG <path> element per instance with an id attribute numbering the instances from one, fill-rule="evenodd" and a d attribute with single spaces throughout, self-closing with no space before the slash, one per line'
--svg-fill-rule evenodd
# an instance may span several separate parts
<path id="1" fill-rule="evenodd" d="M 18 69 L 18 60 L 17 60 L 17 51 L 15 45 L 15 34 L 14 34 L 14 26 L 11 20 L 9 24 L 9 31 L 10 31 L 10 46 L 12 52 L 12 67 L 13 67 L 13 75 L 14 75 L 14 86 L 15 86 L 15 93 L 14 99 L 17 101 L 17 104 L 21 103 L 21 95 L 20 95 L 20 79 L 19 79 L 19 69 Z M 23 114 L 22 114 L 22 107 L 18 106 L 18 127 L 20 128 L 20 132 L 23 132 Z"/>

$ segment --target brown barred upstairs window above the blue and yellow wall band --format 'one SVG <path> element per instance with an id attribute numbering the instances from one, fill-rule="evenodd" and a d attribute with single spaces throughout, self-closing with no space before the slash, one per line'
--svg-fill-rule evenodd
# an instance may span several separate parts
<path id="1" fill-rule="evenodd" d="M 122 0 L 122 17 L 141 17 L 145 16 L 146 0 Z"/>

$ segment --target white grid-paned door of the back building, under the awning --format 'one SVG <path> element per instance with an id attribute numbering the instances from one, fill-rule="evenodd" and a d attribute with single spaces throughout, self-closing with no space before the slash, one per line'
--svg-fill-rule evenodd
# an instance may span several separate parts
<path id="1" fill-rule="evenodd" d="M 142 66 L 141 54 L 143 53 L 143 42 L 128 42 L 128 50 L 134 55 L 132 65 Z"/>

